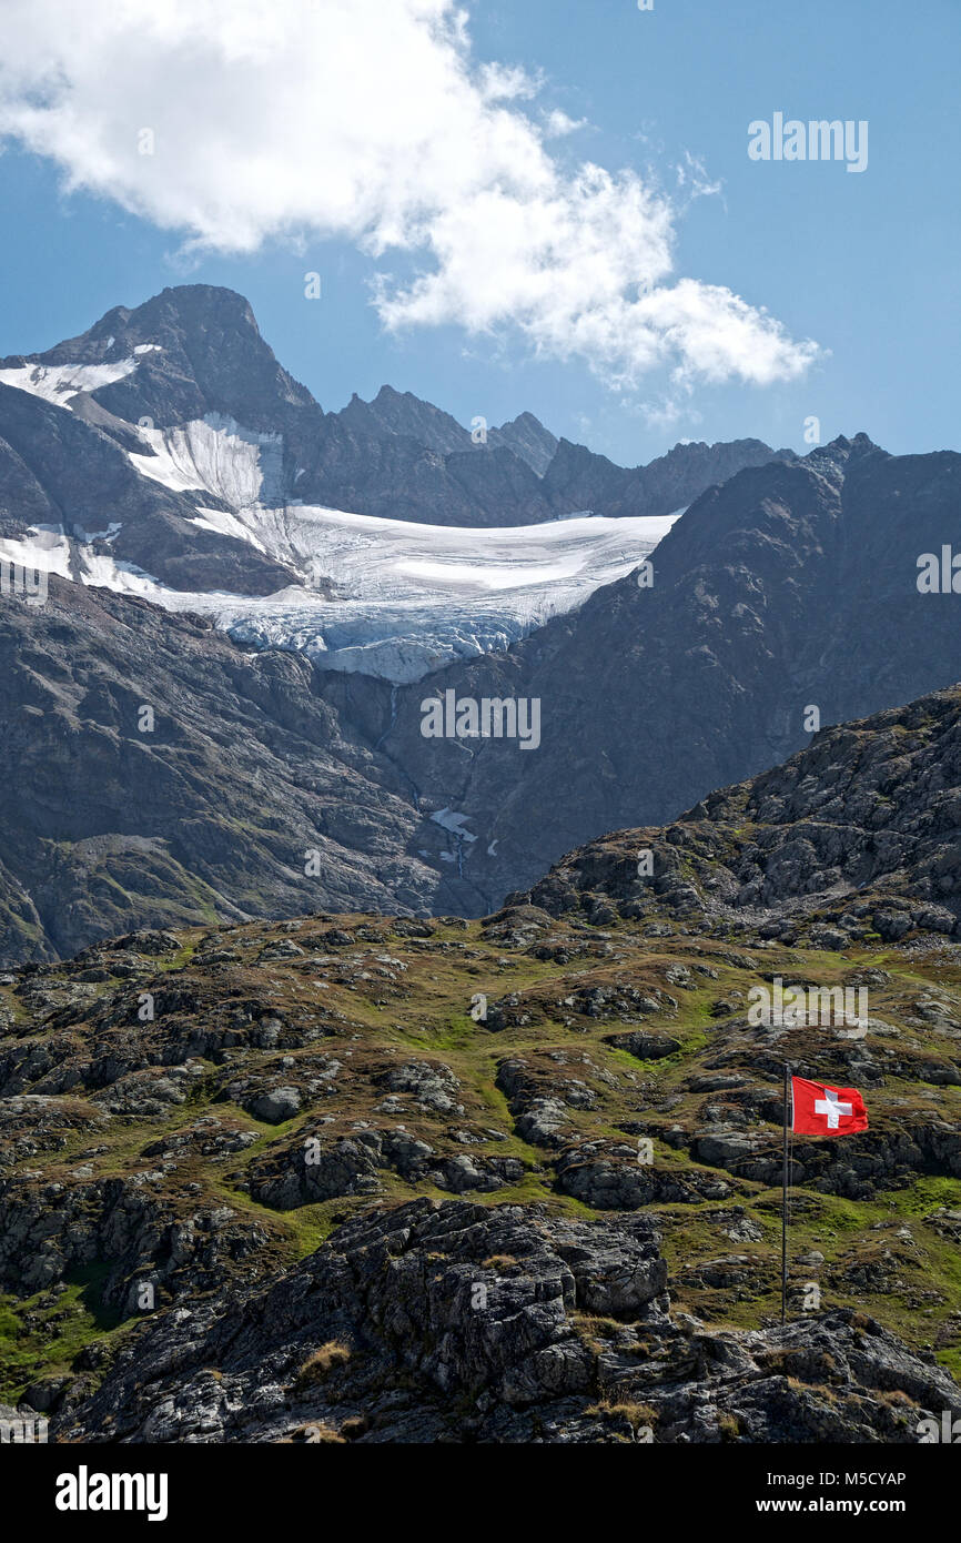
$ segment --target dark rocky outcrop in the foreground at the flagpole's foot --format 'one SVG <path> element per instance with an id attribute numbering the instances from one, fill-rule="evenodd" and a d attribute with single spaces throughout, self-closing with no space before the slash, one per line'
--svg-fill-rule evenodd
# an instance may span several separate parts
<path id="1" fill-rule="evenodd" d="M 120 1349 L 59 1438 L 97 1441 L 918 1441 L 947 1373 L 870 1318 L 673 1322 L 646 1217 L 416 1200 L 346 1224 L 221 1316 Z M 586 1315 L 586 1316 L 585 1316 Z M 591 1321 L 608 1321 L 597 1341 Z M 216 1369 L 216 1372 L 211 1372 Z M 602 1398 L 599 1387 L 605 1389 Z"/>

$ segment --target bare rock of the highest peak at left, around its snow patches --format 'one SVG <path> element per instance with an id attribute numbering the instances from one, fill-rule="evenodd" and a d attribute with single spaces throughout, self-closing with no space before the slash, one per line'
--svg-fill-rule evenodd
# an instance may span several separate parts
<path id="1" fill-rule="evenodd" d="M 248 429 L 304 423 L 319 414 L 302 386 L 276 363 L 250 306 L 233 290 L 185 285 L 136 310 L 116 307 L 89 332 L 45 353 L 11 356 L 39 373 L 63 364 L 116 364 L 139 347 L 133 373 L 52 406 L 0 386 L 0 514 L 63 525 L 68 537 L 119 525 L 105 552 L 176 589 L 219 588 L 271 594 L 296 576 L 248 542 L 199 529 L 196 500 L 142 475 L 128 452 L 143 454 L 133 426 L 154 427 L 222 414 Z M 213 500 L 217 506 L 219 500 Z"/>

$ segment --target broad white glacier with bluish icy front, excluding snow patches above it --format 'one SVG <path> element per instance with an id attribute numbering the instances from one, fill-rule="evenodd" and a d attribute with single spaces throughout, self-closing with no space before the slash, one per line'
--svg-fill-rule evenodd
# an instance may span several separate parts
<path id="1" fill-rule="evenodd" d="M 199 611 L 238 642 L 302 651 L 322 668 L 400 685 L 452 659 L 504 650 L 583 605 L 600 585 L 637 568 L 676 518 L 577 515 L 474 529 L 302 505 L 201 509 L 205 529 L 250 540 L 302 576 L 302 588 L 264 599 L 168 589 L 54 528 L 0 542 L 0 557 L 173 611 Z"/>

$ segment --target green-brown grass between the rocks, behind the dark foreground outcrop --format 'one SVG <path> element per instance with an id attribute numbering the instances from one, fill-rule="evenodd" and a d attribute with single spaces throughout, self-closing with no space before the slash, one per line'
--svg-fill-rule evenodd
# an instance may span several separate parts
<path id="1" fill-rule="evenodd" d="M 145 961 L 142 978 L 120 981 L 111 977 L 97 983 L 91 1001 L 108 1001 L 113 1006 L 119 1003 L 122 1011 L 125 1000 L 133 1008 L 137 992 L 150 989 L 151 983 L 160 991 L 164 984 L 177 981 L 196 986 L 201 994 L 208 992 L 211 1015 L 216 1011 L 214 1001 L 230 994 L 259 995 L 288 1025 L 316 1017 L 319 1011 L 324 1020 L 322 1038 L 313 1038 L 299 1049 L 247 1049 L 241 1058 L 242 1071 L 245 1075 L 268 1074 L 273 1083 L 296 1082 L 301 1062 L 316 1062 L 318 1054 L 336 1055 L 347 1074 L 338 1080 L 335 1097 L 322 1100 L 322 1106 L 305 1105 L 301 1114 L 282 1125 L 267 1125 L 225 1099 L 224 1069 L 214 1062 L 205 1062 L 204 1077 L 196 1080 L 187 1103 L 171 1105 L 157 1116 L 111 1114 L 106 1120 L 99 1120 L 91 1140 L 85 1114 L 100 1114 L 102 1099 L 97 1089 L 74 1088 L 69 1096 L 59 1096 L 63 1119 L 56 1125 L 46 1150 L 32 1151 L 2 1171 L 6 1176 L 25 1171 L 25 1185 L 37 1182 L 29 1177 L 37 1173 L 42 1173 L 45 1182 L 57 1180 L 68 1187 L 89 1183 L 91 1174 L 94 1179 L 128 1179 L 137 1171 L 156 1170 L 156 1157 L 143 1156 L 147 1146 L 162 1136 L 191 1128 L 204 1114 L 213 1114 L 224 1128 L 255 1133 L 255 1145 L 228 1157 L 204 1159 L 193 1150 L 176 1157 L 174 1167 L 165 1173 L 164 1205 L 171 1217 L 182 1217 L 191 1214 L 201 1200 L 228 1204 L 241 1219 L 267 1230 L 273 1245 L 264 1259 L 267 1267 L 312 1251 L 338 1221 L 358 1207 L 404 1200 L 412 1194 L 447 1197 L 446 1191 L 433 1185 L 410 1185 L 390 1171 L 381 1171 L 373 1194 L 341 1196 L 293 1211 L 273 1211 L 245 1193 L 247 1170 L 265 1153 L 293 1148 L 302 1142 L 304 1134 L 318 1131 L 325 1139 L 335 1139 L 349 1134 L 358 1122 L 367 1122 L 376 1129 L 403 1122 L 410 1134 L 444 1154 L 469 1151 L 520 1159 L 523 1179 L 494 1191 L 472 1191 L 470 1199 L 480 1204 L 538 1200 L 560 1211 L 589 1214 L 580 1200 L 558 1193 L 555 1154 L 529 1145 L 515 1133 L 507 1100 L 495 1086 L 498 1062 L 507 1055 L 526 1058 L 545 1092 L 551 1092 L 552 1079 L 557 1082 L 558 1077 L 577 1077 L 586 1083 L 595 1103 L 594 1108 L 569 1111 L 575 1139 L 631 1143 L 632 1137 L 625 1136 L 620 1126 L 623 1122 L 639 1120 L 646 1122 L 652 1133 L 663 1129 L 666 1134 L 671 1126 L 680 1126 L 685 1133 L 694 1128 L 703 1131 L 708 1128 L 705 1105 L 717 1105 L 723 1094 L 696 1092 L 690 1088 L 690 1080 L 716 1069 L 719 1057 L 733 1057 L 731 1063 L 748 1082 L 754 1079 L 771 1096 L 777 1092 L 770 1072 L 764 1075 L 760 1068 L 753 1068 L 753 1058 L 757 1062 L 756 1040 L 744 1034 L 744 1021 L 737 1028 L 730 1017 L 711 1015 L 717 998 L 731 991 L 747 994 L 765 974 L 782 974 L 785 981 L 802 978 L 830 986 L 839 983 L 855 966 L 881 967 L 889 972 L 889 981 L 872 991 L 870 1012 L 892 1034 L 875 1038 L 868 1031 L 868 1045 L 881 1051 L 904 1052 L 909 1063 L 912 1055 L 916 1062 L 935 1058 L 949 1063 L 952 1055 L 958 1058 L 959 1038 L 953 1032 L 926 1026 L 913 1011 L 918 998 L 933 991 L 944 994 L 941 1000 L 949 1004 L 949 1012 L 956 1008 L 956 1014 L 961 1014 L 961 966 L 953 958 L 958 950 L 932 949 L 927 955 L 912 957 L 898 949 L 875 947 L 850 950 L 842 957 L 784 947 L 760 950 L 751 943 L 727 944 L 696 935 L 646 938 L 640 935 L 639 926 L 629 923 L 605 932 L 571 932 L 558 923 L 554 937 L 571 940 L 572 946 L 585 944 L 588 952 L 568 963 L 551 963 L 523 949 L 486 940 L 481 923 L 470 923 L 467 927 L 438 923 L 432 938 L 415 940 L 390 934 L 384 920 L 372 923 L 372 918 L 362 918 L 364 924 L 383 932 L 383 943 L 358 941 L 353 947 L 330 949 L 321 955 L 309 949 L 292 961 L 256 963 L 262 941 L 316 937 L 333 921 L 335 918 L 324 918 L 322 923 L 310 918 L 301 923 L 299 934 L 288 930 L 290 924 L 222 927 L 219 937 L 224 946 L 236 949 L 239 958 L 225 971 L 222 967 L 216 978 L 210 967 L 196 960 L 194 950 L 205 934 L 193 930 L 184 934 L 184 946 L 177 954 Z M 338 918 L 338 926 L 356 924 L 358 918 Z M 242 943 L 248 938 L 256 940 L 256 946 L 244 950 Z M 440 944 L 452 947 L 444 950 Z M 606 955 L 602 952 L 605 949 L 609 950 Z M 731 963 L 731 954 L 750 955 L 756 967 Z M 378 967 L 378 957 L 400 960 L 407 967 Z M 325 963 L 313 964 L 312 958 Z M 694 989 L 676 989 L 665 983 L 665 967 L 679 963 L 694 972 Z M 717 978 L 697 974 L 697 966 L 714 969 Z M 56 989 L 59 981 L 69 983 L 76 972 L 77 966 L 57 966 L 45 978 L 45 986 Z M 558 1008 L 565 997 L 585 986 L 608 981 L 668 991 L 676 998 L 677 1009 L 645 1015 L 642 1026 L 645 1031 L 679 1038 L 682 1049 L 663 1060 L 639 1062 L 626 1051 L 605 1043 L 609 1034 L 637 1028 L 637 1018 L 594 1020 Z M 507 994 L 520 994 L 517 1011 L 523 1011 L 529 1021 L 491 1032 L 469 1017 L 474 992 L 484 992 L 492 1003 Z M 9 1009 L 17 1043 L 22 1043 L 28 1023 L 20 986 L 0 988 L 0 1001 Z M 952 1003 L 955 1008 L 950 1008 Z M 89 1011 L 93 1014 L 93 1006 Z M 130 1017 L 136 1018 L 136 1009 Z M 204 1012 L 199 1017 L 202 1020 Z M 173 1025 L 160 1020 L 145 1028 L 162 1037 L 168 1026 Z M 40 1042 L 49 1032 L 49 1028 L 34 1021 L 29 1037 Z M 59 1032 L 69 1035 L 80 1058 L 86 1054 L 91 1035 L 85 1021 Z M 103 1043 L 119 1032 L 100 1029 L 97 1038 Z M 811 1040 L 811 1035 L 816 1038 Z M 0 1049 L 11 1043 L 11 1038 L 3 1040 Z M 835 1040 L 830 1029 L 801 1029 L 784 1035 L 774 1054 L 787 1054 L 810 1065 L 813 1055 L 824 1055 L 827 1049 L 827 1071 L 822 1074 L 827 1080 L 842 1082 L 845 1077 L 841 1063 L 831 1075 L 831 1045 Z M 278 1075 L 282 1055 L 290 1057 L 292 1063 Z M 558 1055 L 563 1060 L 558 1062 Z M 446 1063 L 450 1068 L 460 1082 L 457 1097 L 464 1105 L 463 1114 L 438 1117 L 420 1108 L 410 1096 L 401 1097 L 400 1116 L 378 1108 L 384 1099 L 376 1082 L 378 1071 L 392 1060 L 400 1065 L 412 1058 Z M 234 1069 L 241 1062 L 234 1063 Z M 926 1111 L 936 1111 L 955 1129 L 961 1126 L 961 1088 L 896 1075 L 867 1088 L 865 1094 L 873 1131 L 910 1128 L 912 1120 L 924 1117 Z M 93 1102 L 85 1103 L 85 1099 Z M 333 1116 L 333 1122 L 318 1126 L 318 1113 Z M 480 1136 L 481 1142 L 477 1146 L 458 1146 L 450 1140 L 455 1128 Z M 765 1123 L 753 1116 L 747 1128 L 751 1134 L 768 1137 L 771 1151 L 777 1150 L 781 1131 L 776 1123 Z M 486 1133 L 491 1129 L 503 1133 L 506 1140 L 489 1137 Z M 853 1148 L 858 1137 L 850 1137 L 848 1142 Z M 12 1156 L 8 1146 L 8 1163 Z M 697 1167 L 683 1146 L 668 1145 L 657 1136 L 656 1165 L 679 1173 Z M 82 1176 L 77 1168 L 83 1168 Z M 731 1182 L 731 1174 L 720 1176 Z M 781 1191 L 748 1179 L 733 1182 L 737 1193 L 727 1200 L 657 1205 L 649 1210 L 662 1221 L 674 1301 L 713 1325 L 751 1327 L 771 1321 L 779 1305 Z M 201 1194 L 188 1191 L 188 1185 L 199 1185 Z M 760 1228 L 759 1241 L 736 1242 L 722 1231 L 725 1216 L 730 1225 L 733 1205 L 742 1207 L 750 1222 Z M 810 1265 L 794 1264 L 793 1282 L 801 1290 L 804 1281 L 816 1278 L 824 1308 L 856 1305 L 895 1329 L 910 1344 L 933 1350 L 941 1364 L 961 1375 L 961 1251 L 958 1242 L 946 1236 L 942 1224 L 936 1217 L 932 1221 L 939 1207 L 961 1211 L 961 1180 L 946 1173 L 905 1173 L 898 1177 L 895 1188 L 878 1190 L 859 1200 L 799 1187 L 793 1196 L 791 1258 L 799 1261 L 808 1250 L 818 1250 L 824 1254 L 824 1264 L 814 1273 Z M 708 1271 L 713 1284 L 705 1284 L 702 1267 L 719 1259 L 734 1262 L 722 1267 L 720 1273 L 717 1268 Z M 19 1299 L 9 1291 L 3 1296 L 0 1400 L 19 1396 L 35 1376 L 66 1370 L 89 1341 L 130 1332 L 130 1321 L 119 1322 L 99 1301 L 97 1281 L 102 1270 L 103 1265 L 96 1264 L 86 1279 L 68 1278 L 66 1290 L 32 1293 L 29 1299 Z M 244 1279 L 248 1278 L 247 1270 Z M 162 1308 L 164 1301 L 159 1305 Z M 801 1305 L 799 1298 L 796 1305 Z"/>

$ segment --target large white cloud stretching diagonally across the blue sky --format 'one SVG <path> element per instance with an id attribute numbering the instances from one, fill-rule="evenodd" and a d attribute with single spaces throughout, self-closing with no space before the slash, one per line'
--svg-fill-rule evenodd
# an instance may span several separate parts
<path id="1" fill-rule="evenodd" d="M 572 165 L 540 79 L 478 63 L 452 0 L 5 0 L 0 136 L 190 247 L 341 238 L 384 324 L 518 329 L 631 387 L 791 380 L 816 355 L 727 289 L 674 276 L 677 210 Z M 156 153 L 140 154 L 140 131 Z M 404 253 L 412 279 L 390 278 Z"/>

